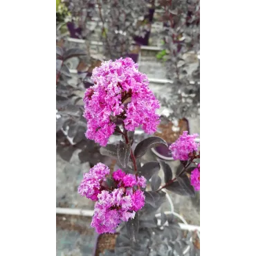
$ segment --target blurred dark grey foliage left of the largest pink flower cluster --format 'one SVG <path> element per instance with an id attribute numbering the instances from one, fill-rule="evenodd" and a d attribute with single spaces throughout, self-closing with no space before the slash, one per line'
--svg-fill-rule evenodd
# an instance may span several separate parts
<path id="1" fill-rule="evenodd" d="M 66 50 L 56 46 L 55 60 L 55 97 L 56 97 L 56 152 L 65 161 L 70 161 L 73 153 L 80 150 L 81 163 L 89 161 L 91 165 L 104 161 L 100 155 L 100 147 L 84 136 L 86 131 L 86 120 L 82 118 L 84 103 L 82 97 L 88 84 L 86 73 L 80 75 L 80 82 L 70 82 L 72 74 L 68 69 L 68 60 L 73 57 L 80 57 L 80 60 L 91 62 L 91 58 L 80 48 Z M 91 85 L 91 84 L 90 84 Z"/>

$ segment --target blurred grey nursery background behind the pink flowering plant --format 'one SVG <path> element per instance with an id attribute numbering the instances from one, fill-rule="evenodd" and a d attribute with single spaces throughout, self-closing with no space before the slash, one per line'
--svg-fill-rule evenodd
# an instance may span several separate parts
<path id="1" fill-rule="evenodd" d="M 91 73 L 105 60 L 131 57 L 149 77 L 161 102 L 156 136 L 171 145 L 183 131 L 200 135 L 200 70 L 198 0 L 55 0 L 56 26 L 56 207 L 93 210 L 94 203 L 77 194 L 82 174 L 99 161 L 115 170 L 116 161 L 100 154 L 100 146 L 84 136 L 84 91 Z M 148 135 L 138 129 L 136 146 Z M 111 136 L 110 143 L 119 138 Z M 146 161 L 165 160 L 173 172 L 179 163 L 165 147 L 148 150 Z M 163 174 L 160 173 L 163 176 Z M 176 212 L 200 226 L 201 192 L 196 198 L 170 193 Z M 163 205 L 164 210 L 170 206 Z M 57 210 L 56 255 L 93 255 L 91 217 Z"/>

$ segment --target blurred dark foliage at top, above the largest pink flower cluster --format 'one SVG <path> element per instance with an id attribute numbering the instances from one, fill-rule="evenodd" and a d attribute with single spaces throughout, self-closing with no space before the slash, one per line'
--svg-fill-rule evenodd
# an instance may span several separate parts
<path id="1" fill-rule="evenodd" d="M 134 37 L 145 37 L 149 32 L 145 16 L 149 13 L 147 1 L 64 0 L 72 17 L 71 34 L 90 40 L 98 34 L 104 55 L 115 60 L 131 53 Z"/>

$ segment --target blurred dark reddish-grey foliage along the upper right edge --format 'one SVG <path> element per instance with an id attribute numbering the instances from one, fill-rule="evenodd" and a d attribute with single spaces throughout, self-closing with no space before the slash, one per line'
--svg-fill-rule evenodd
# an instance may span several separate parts
<path id="1" fill-rule="evenodd" d="M 169 53 L 165 62 L 170 84 L 168 101 L 159 95 L 162 104 L 171 109 L 170 119 L 194 117 L 200 111 L 200 71 L 199 60 L 192 60 L 196 68 L 191 73 L 189 58 L 199 54 L 200 3 L 199 0 L 158 1 L 158 8 L 164 10 L 164 29 L 160 35 Z M 163 50 L 163 51 L 165 51 Z M 164 52 L 163 52 L 164 53 Z M 158 53 L 158 58 L 162 58 Z M 165 55 L 167 57 L 167 55 Z"/>

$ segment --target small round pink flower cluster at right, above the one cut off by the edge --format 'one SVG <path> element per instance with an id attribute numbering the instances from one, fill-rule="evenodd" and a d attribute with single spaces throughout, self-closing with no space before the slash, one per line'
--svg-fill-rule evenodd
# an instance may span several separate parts
<path id="1" fill-rule="evenodd" d="M 174 160 L 187 161 L 190 158 L 190 153 L 197 152 L 200 144 L 196 143 L 194 138 L 198 136 L 199 134 L 188 135 L 188 131 L 183 131 L 183 134 L 179 136 L 178 140 L 169 147 Z"/>

